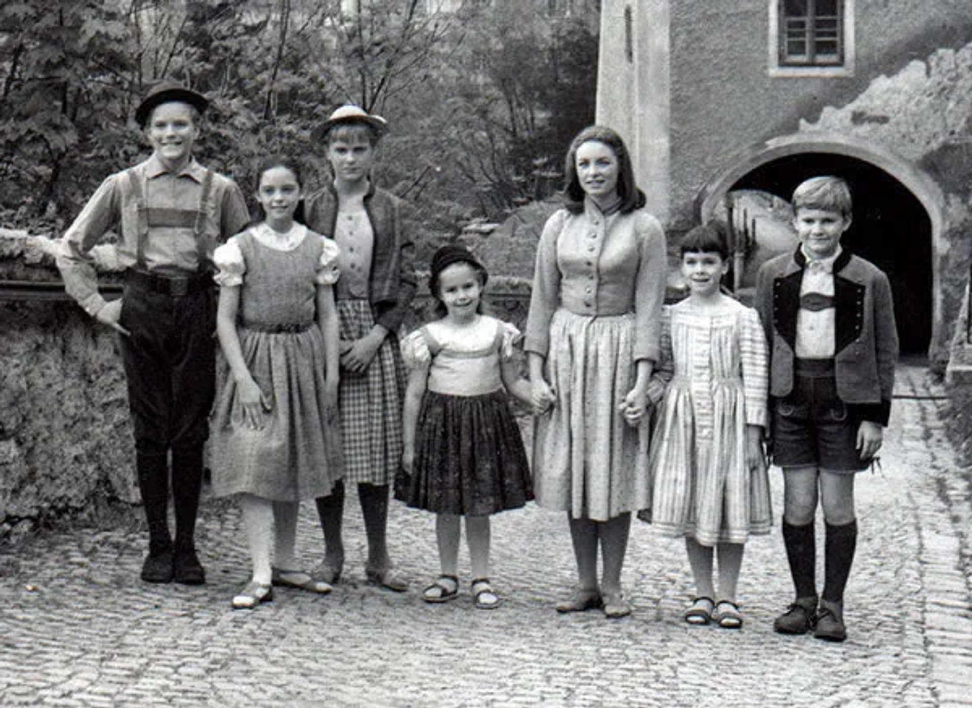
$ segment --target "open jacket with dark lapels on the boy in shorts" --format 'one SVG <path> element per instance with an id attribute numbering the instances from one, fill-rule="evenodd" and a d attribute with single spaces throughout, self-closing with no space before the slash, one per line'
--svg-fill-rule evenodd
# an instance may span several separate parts
<path id="1" fill-rule="evenodd" d="M 793 390 L 796 316 L 806 257 L 801 249 L 767 261 L 756 279 L 756 309 L 770 343 L 770 395 Z M 837 395 L 851 415 L 887 425 L 898 336 L 891 287 L 878 267 L 843 251 L 834 262 Z"/>

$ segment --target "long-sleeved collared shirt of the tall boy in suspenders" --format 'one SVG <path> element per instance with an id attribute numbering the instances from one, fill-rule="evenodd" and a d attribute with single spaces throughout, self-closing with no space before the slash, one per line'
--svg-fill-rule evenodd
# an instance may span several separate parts
<path id="1" fill-rule="evenodd" d="M 195 215 L 202 195 L 206 168 L 195 159 L 178 172 L 170 172 L 156 155 L 109 176 L 64 234 L 57 258 L 65 290 L 88 314 L 96 314 L 105 305 L 98 294 L 97 276 L 90 257 L 91 249 L 109 230 L 117 230 L 119 265 L 136 264 L 138 249 L 137 197 L 128 176 L 138 180 L 148 208 L 149 237 L 145 246 L 146 267 L 155 272 L 195 272 L 200 254 L 194 234 Z M 217 239 L 225 241 L 243 230 L 250 220 L 246 200 L 232 180 L 213 174 L 204 216 L 204 231 L 212 236 L 210 249 Z M 211 250 L 201 255 L 211 260 Z"/>

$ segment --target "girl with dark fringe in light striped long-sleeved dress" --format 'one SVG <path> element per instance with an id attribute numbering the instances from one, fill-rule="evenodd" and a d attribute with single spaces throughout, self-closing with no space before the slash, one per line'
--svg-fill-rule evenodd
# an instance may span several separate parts
<path id="1" fill-rule="evenodd" d="M 662 400 L 651 438 L 654 493 L 650 513 L 640 517 L 666 536 L 685 538 L 696 588 L 685 621 L 738 629 L 744 544 L 769 533 L 772 521 L 762 445 L 766 341 L 756 311 L 720 291 L 729 267 L 721 232 L 712 225 L 690 230 L 680 250 L 690 294 L 663 313 L 662 358 L 650 393 Z"/>

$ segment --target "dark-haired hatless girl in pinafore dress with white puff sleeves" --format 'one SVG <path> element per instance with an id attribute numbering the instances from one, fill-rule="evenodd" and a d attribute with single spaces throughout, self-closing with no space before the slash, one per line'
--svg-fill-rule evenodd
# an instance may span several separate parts
<path id="1" fill-rule="evenodd" d="M 272 584 L 331 589 L 295 569 L 294 547 L 298 503 L 330 493 L 342 472 L 331 287 L 338 249 L 295 223 L 299 198 L 296 164 L 265 160 L 257 191 L 265 220 L 213 257 L 226 357 L 213 414 L 213 490 L 239 495 L 253 557 L 236 609 L 271 600 Z"/>

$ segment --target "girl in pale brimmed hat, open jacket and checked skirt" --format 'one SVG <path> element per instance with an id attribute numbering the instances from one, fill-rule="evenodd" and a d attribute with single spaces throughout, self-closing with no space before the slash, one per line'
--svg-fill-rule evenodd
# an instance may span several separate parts
<path id="1" fill-rule="evenodd" d="M 388 501 L 401 465 L 405 372 L 399 328 L 415 297 L 415 248 L 398 197 L 374 186 L 371 166 L 386 129 L 380 116 L 341 106 L 312 135 L 324 141 L 333 181 L 307 197 L 307 225 L 341 249 L 335 296 L 340 320 L 339 408 L 344 481 L 358 488 L 367 534 L 367 582 L 407 589 L 388 552 Z M 312 571 L 336 583 L 344 567 L 344 484 L 317 500 L 325 555 Z"/>

